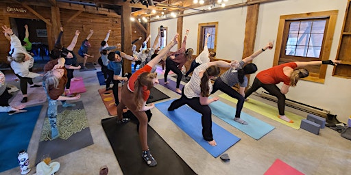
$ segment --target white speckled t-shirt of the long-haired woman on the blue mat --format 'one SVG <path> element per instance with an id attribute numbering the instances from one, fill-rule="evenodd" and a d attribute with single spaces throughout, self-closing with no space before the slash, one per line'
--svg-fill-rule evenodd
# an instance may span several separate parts
<path id="1" fill-rule="evenodd" d="M 187 98 L 199 97 L 201 95 L 201 78 L 199 77 L 199 72 L 204 72 L 207 68 L 207 64 L 201 64 L 200 66 L 197 66 L 197 68 L 195 68 L 190 81 L 184 86 L 184 94 Z M 208 80 L 208 87 L 210 87 L 209 93 L 211 93 L 212 83 L 210 80 Z"/>

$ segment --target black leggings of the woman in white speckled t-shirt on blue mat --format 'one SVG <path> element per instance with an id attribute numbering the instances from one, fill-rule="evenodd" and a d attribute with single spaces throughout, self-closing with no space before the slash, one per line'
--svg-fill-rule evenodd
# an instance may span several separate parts
<path id="1" fill-rule="evenodd" d="M 174 100 L 169 106 L 168 110 L 173 111 L 174 109 L 178 109 L 182 105 L 189 105 L 191 109 L 194 109 L 198 113 L 201 113 L 202 137 L 204 137 L 204 139 L 208 142 L 213 141 L 211 118 L 212 111 L 210 107 L 208 107 L 208 105 L 201 105 L 199 97 L 186 97 L 184 94 L 184 88 L 182 89 L 182 96 L 178 100 Z"/>

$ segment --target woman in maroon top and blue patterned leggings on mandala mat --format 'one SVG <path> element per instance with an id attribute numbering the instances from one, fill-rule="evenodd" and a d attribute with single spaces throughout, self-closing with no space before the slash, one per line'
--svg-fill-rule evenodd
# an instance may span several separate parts
<path id="1" fill-rule="evenodd" d="M 66 107 L 69 107 L 70 105 L 66 103 L 65 100 L 77 100 L 80 98 L 80 94 L 73 97 L 61 96 L 64 93 L 64 86 L 67 83 L 67 70 L 64 68 L 64 62 L 65 59 L 61 57 L 47 62 L 44 66 L 44 71 L 46 73 L 43 77 L 43 87 L 49 102 L 47 116 L 51 126 L 51 139 L 56 139 L 60 136 L 56 124 L 58 100 L 62 100 L 62 106 L 66 104 Z"/>

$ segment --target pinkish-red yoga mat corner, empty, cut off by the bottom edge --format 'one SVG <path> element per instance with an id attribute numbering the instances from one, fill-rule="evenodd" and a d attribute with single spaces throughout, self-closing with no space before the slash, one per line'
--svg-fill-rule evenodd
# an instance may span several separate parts
<path id="1" fill-rule="evenodd" d="M 280 159 L 276 159 L 273 165 L 269 167 L 265 175 L 303 175 L 302 172 L 299 172 L 295 168 L 291 167 L 287 163 L 280 161 Z"/>

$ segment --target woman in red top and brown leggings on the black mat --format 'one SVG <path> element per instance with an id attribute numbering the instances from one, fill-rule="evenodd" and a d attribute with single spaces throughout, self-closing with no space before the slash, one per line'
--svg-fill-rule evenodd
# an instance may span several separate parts
<path id="1" fill-rule="evenodd" d="M 139 139 L 141 142 L 142 156 L 144 161 L 150 167 L 156 166 L 157 162 L 150 153 L 147 145 L 147 115 L 145 111 L 155 107 L 154 103 L 147 106 L 147 98 L 150 95 L 150 89 L 158 84 L 156 73 L 150 72 L 158 62 L 165 57 L 169 50 L 178 43 L 178 34 L 176 34 L 170 44 L 165 46 L 158 55 L 148 62 L 143 68 L 134 72 L 130 77 L 128 83 L 122 87 L 121 102 L 117 106 L 117 124 L 128 122 L 130 118 L 123 118 L 123 108 L 128 107 L 130 111 L 136 116 L 139 122 Z"/>

